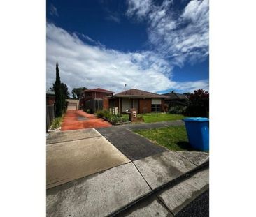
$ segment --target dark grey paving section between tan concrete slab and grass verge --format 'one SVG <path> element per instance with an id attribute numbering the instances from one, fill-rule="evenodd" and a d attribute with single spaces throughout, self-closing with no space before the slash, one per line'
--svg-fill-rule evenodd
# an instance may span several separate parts
<path id="1" fill-rule="evenodd" d="M 131 160 L 138 160 L 167 151 L 164 147 L 153 144 L 150 140 L 132 133 L 127 128 L 110 127 L 97 130 Z"/>

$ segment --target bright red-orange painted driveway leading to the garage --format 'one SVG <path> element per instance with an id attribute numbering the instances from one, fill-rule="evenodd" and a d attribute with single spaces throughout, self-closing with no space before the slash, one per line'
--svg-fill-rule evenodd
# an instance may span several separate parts
<path id="1" fill-rule="evenodd" d="M 108 127 L 111 124 L 83 110 L 68 110 L 64 115 L 61 130 L 79 130 L 84 128 Z"/>

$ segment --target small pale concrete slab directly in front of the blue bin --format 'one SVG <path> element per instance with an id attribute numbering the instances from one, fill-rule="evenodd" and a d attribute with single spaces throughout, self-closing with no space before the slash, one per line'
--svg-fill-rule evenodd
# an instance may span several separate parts
<path id="1" fill-rule="evenodd" d="M 181 156 L 187 158 L 197 166 L 209 160 L 209 154 L 202 151 L 176 151 L 176 152 Z"/>

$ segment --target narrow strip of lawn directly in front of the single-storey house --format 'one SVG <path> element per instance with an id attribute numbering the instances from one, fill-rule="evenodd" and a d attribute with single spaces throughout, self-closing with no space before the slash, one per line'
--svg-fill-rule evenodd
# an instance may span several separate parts
<path id="1" fill-rule="evenodd" d="M 159 121 L 176 121 L 184 119 L 182 114 L 143 114 L 145 123 L 159 122 Z"/>

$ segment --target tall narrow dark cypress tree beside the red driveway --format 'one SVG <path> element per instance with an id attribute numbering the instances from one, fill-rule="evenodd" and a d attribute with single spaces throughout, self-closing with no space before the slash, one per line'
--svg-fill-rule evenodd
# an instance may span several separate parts
<path id="1" fill-rule="evenodd" d="M 62 110 L 63 110 L 63 99 L 62 99 L 62 87 L 59 77 L 59 65 L 58 62 L 56 63 L 56 80 L 55 80 L 55 115 L 56 117 L 62 116 Z"/>

